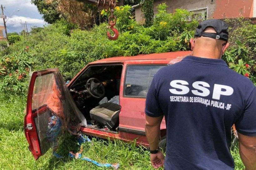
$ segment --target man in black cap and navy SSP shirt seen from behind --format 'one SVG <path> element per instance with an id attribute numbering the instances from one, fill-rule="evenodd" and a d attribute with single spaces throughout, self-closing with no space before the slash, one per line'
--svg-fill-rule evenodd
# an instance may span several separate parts
<path id="1" fill-rule="evenodd" d="M 229 147 L 235 124 L 245 169 L 256 170 L 256 88 L 220 59 L 229 47 L 227 29 L 220 20 L 200 22 L 190 40 L 193 56 L 155 74 L 145 107 L 154 168 L 233 170 Z M 166 158 L 158 146 L 163 116 Z"/>

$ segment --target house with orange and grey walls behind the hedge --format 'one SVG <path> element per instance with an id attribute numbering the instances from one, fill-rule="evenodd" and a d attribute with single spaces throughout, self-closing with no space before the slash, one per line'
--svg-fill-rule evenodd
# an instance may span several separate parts
<path id="1" fill-rule="evenodd" d="M 177 8 L 192 11 L 199 20 L 256 17 L 256 0 L 154 0 L 154 14 L 157 13 L 157 5 L 160 3 L 166 3 L 170 13 L 175 12 Z M 135 20 L 143 21 L 139 4 L 135 7 Z"/>

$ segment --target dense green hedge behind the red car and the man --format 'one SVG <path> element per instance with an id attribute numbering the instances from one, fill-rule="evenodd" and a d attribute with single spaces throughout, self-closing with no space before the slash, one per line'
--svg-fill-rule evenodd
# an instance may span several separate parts
<path id="1" fill-rule="evenodd" d="M 113 56 L 134 56 L 138 54 L 163 53 L 169 51 L 190 50 L 189 39 L 193 37 L 198 21 L 191 20 L 193 13 L 182 9 L 176 9 L 175 13 L 167 13 L 166 5 L 158 6 L 153 25 L 144 27 L 135 22 L 131 15 L 130 6 L 116 7 L 117 17 L 116 27 L 120 31 L 117 40 L 108 40 L 106 36 L 107 23 L 94 26 L 90 31 L 82 31 L 77 25 L 67 23 L 64 20 L 57 21 L 53 25 L 33 31 L 28 36 L 11 39 L 9 47 L 0 44 L 3 55 L 0 61 L 0 80 L 5 83 L 20 85 L 17 88 L 4 88 L 23 93 L 27 85 L 18 83 L 20 81 L 15 75 L 14 69 L 9 69 L 4 59 L 19 58 L 10 62 L 28 62 L 27 67 L 18 64 L 19 68 L 27 70 L 41 70 L 45 68 L 57 67 L 60 69 L 65 80 L 70 80 L 76 75 L 78 70 L 89 62 Z M 103 17 L 109 12 L 101 12 Z M 223 59 L 229 67 L 249 77 L 256 84 L 256 25 L 243 18 L 227 20 L 230 32 L 231 47 L 226 51 Z M 72 31 L 70 31 L 72 30 Z M 111 32 L 111 30 L 110 30 Z M 14 43 L 15 42 L 15 43 Z M 26 50 L 26 51 L 24 51 Z M 27 60 L 28 61 L 25 61 Z M 32 61 L 31 61 L 32 59 Z M 6 70 L 7 69 L 7 70 Z M 8 71 L 9 70 L 9 71 Z M 8 76 L 15 75 L 17 80 Z M 27 72 L 19 71 L 27 75 Z M 25 80 L 25 79 L 24 79 Z M 0 85 L 0 89 L 3 89 Z"/>

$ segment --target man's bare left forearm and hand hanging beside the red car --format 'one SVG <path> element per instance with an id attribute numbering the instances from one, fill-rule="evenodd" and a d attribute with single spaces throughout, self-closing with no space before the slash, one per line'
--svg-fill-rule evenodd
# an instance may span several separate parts
<path id="1" fill-rule="evenodd" d="M 150 150 L 157 150 L 159 147 L 160 139 L 160 125 L 163 119 L 163 116 L 159 117 L 150 117 L 146 116 L 145 131 L 146 137 L 149 142 Z M 165 157 L 161 151 L 158 153 L 150 153 L 150 161 L 154 168 L 159 168 L 164 166 Z"/>

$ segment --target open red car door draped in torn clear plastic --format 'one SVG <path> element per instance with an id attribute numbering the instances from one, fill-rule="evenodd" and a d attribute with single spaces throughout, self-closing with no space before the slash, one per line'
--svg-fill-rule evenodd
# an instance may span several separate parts
<path id="1" fill-rule="evenodd" d="M 51 147 L 55 150 L 65 131 L 76 134 L 81 125 L 86 125 L 86 120 L 77 109 L 59 70 L 34 72 L 24 118 L 25 136 L 34 158 L 37 160 Z"/>

